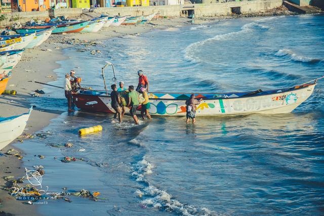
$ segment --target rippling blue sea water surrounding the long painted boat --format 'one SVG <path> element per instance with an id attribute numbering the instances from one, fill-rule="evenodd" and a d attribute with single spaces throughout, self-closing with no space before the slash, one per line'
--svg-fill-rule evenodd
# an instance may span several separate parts
<path id="1" fill-rule="evenodd" d="M 92 48 L 91 48 L 92 49 Z M 151 91 L 232 92 L 292 87 L 324 75 L 324 16 L 218 21 L 155 30 L 104 41 L 90 51 L 64 51 L 57 81 L 70 69 L 82 85 L 103 89 L 105 61 L 117 80 L 136 85 L 137 70 Z M 106 68 L 107 84 L 112 70 Z M 134 125 L 112 115 L 64 112 L 46 138 L 17 147 L 24 165 L 43 165 L 49 191 L 99 191 L 97 202 L 69 197 L 39 204 L 44 215 L 321 215 L 324 212 L 324 80 L 289 114 L 238 117 L 155 117 Z M 64 93 L 46 87 L 37 107 L 66 108 Z M 83 137 L 78 129 L 100 124 Z M 28 131 L 26 131 L 28 132 Z M 50 144 L 73 143 L 73 148 Z M 39 159 L 38 154 L 45 155 Z M 34 156 L 35 155 L 35 156 Z M 86 161 L 63 163 L 63 156 Z M 54 158 L 56 157 L 56 159 Z"/>

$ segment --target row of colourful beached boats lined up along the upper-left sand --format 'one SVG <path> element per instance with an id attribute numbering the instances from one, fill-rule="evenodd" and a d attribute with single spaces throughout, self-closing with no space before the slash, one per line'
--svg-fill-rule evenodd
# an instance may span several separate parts
<path id="1" fill-rule="evenodd" d="M 18 64 L 24 49 L 41 45 L 51 34 L 97 32 L 103 27 L 142 24 L 151 21 L 157 13 L 146 16 L 101 16 L 87 21 L 55 18 L 49 22 L 29 23 L 12 28 L 17 34 L 0 35 L 0 95 L 5 91 L 11 70 Z"/>

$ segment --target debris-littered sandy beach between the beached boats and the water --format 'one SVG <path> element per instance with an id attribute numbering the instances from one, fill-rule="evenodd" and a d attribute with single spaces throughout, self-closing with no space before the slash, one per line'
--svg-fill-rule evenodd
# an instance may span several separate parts
<path id="1" fill-rule="evenodd" d="M 280 15 L 281 14 L 279 14 L 278 16 Z M 195 19 L 195 24 L 207 24 L 222 19 L 233 18 L 244 17 L 235 16 L 226 18 L 202 18 Z M 61 67 L 60 64 L 58 64 L 57 62 L 64 60 L 67 57 L 63 55 L 62 49 L 70 48 L 73 45 L 78 45 L 82 42 L 85 43 L 85 40 L 86 43 L 91 44 L 91 42 L 93 41 L 107 40 L 113 37 L 123 37 L 126 35 L 139 35 L 154 29 L 165 29 L 170 27 L 191 25 L 191 23 L 189 23 L 190 21 L 191 19 L 187 18 L 162 18 L 152 21 L 152 24 L 109 27 L 102 29 L 97 33 L 72 33 L 63 35 L 51 35 L 51 37 L 47 41 L 45 41 L 44 44 L 40 47 L 32 50 L 26 50 L 23 54 L 21 62 L 17 65 L 16 68 L 13 69 L 13 78 L 9 81 L 7 89 L 16 90 L 18 95 L 2 95 L 0 97 L 0 109 L 4 111 L 2 115 L 10 116 L 21 114 L 27 111 L 27 109 L 29 108 L 28 99 L 29 97 L 31 97 L 29 93 L 36 89 L 40 90 L 44 88 L 44 85 L 30 81 L 37 80 L 40 82 L 48 83 L 50 81 L 57 80 L 58 76 L 54 69 Z M 71 42 L 73 44 L 71 44 Z M 94 50 L 95 47 L 96 46 L 90 46 L 90 50 Z M 90 51 L 89 55 L 91 55 Z M 46 71 L 46 73 L 42 73 L 42 71 Z M 28 124 L 26 126 L 27 130 L 25 132 L 28 134 L 34 134 L 37 131 L 41 131 L 51 122 L 51 119 L 57 118 L 61 113 L 61 111 L 43 110 L 42 107 L 36 107 L 32 111 L 30 119 L 28 120 Z M 14 141 L 13 143 L 15 142 L 16 141 Z M 5 147 L 3 150 L 1 150 L 1 153 L 5 153 L 8 149 L 11 149 L 11 145 L 12 143 Z M 22 153 L 22 155 L 24 155 L 24 153 Z M 15 176 L 15 178 L 20 178 L 24 175 L 24 170 L 18 168 L 22 165 L 22 161 L 18 160 L 15 156 L 4 155 L 0 158 L 2 158 L 1 162 L 2 164 L 4 164 L 4 168 L 0 170 L 0 187 L 2 187 L 3 189 L 6 183 L 6 181 L 4 181 L 5 176 Z M 6 213 L 9 212 L 16 215 L 39 214 L 39 212 L 36 211 L 36 207 L 34 205 L 32 205 L 33 207 L 29 205 L 29 207 L 26 208 L 26 205 L 24 205 L 23 202 L 14 201 L 15 198 L 11 197 L 8 194 L 8 191 L 0 190 L 0 198 L 1 203 L 3 205 L 0 208 L 0 212 L 4 211 Z"/>

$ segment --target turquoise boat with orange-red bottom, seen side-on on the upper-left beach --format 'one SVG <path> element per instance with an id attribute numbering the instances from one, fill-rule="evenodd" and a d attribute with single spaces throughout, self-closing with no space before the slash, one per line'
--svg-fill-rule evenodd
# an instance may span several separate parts
<path id="1" fill-rule="evenodd" d="M 82 31 L 88 24 L 89 21 L 62 23 L 62 24 L 47 23 L 44 25 L 23 26 L 22 28 L 17 28 L 14 30 L 17 33 L 23 33 L 23 32 L 30 32 L 30 31 L 34 32 L 42 29 L 55 27 L 55 29 L 53 29 L 52 31 L 52 34 L 73 33 L 73 32 Z"/>

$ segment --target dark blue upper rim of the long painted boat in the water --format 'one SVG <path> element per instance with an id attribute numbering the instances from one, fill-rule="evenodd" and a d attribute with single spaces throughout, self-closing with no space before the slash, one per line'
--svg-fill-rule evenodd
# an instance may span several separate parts
<path id="1" fill-rule="evenodd" d="M 289 90 L 287 91 L 282 91 L 280 93 L 278 92 L 274 92 L 274 93 L 270 93 L 270 94 L 266 94 L 266 95 L 251 95 L 251 96 L 240 96 L 240 97 L 233 97 L 233 98 L 223 98 L 223 97 L 219 97 L 219 98 L 206 98 L 203 100 L 204 101 L 209 101 L 209 100 L 228 100 L 228 99 L 241 99 L 241 98 L 254 98 L 254 97 L 261 97 L 261 96 L 269 96 L 269 95 L 276 95 L 276 94 L 283 94 L 283 93 L 287 93 L 287 92 L 292 92 L 292 91 L 299 91 L 299 90 L 303 90 L 303 89 L 306 89 L 308 87 L 310 87 L 311 85 L 316 85 L 317 83 L 310 83 L 310 84 L 307 84 L 305 87 L 301 87 L 301 88 L 298 88 L 298 89 L 294 89 L 292 90 L 292 88 L 295 88 L 295 87 L 298 87 L 300 85 L 295 85 L 294 87 L 290 88 Z M 279 91 L 279 90 L 282 90 L 282 89 L 274 89 L 274 90 L 267 90 L 267 91 Z M 99 91 L 96 91 L 96 92 L 99 92 Z M 102 92 L 103 94 L 105 94 L 105 92 Z M 203 95 L 203 94 L 208 94 L 208 95 L 225 95 L 225 94 L 235 94 L 234 93 L 165 93 L 165 92 L 148 92 L 148 94 L 182 94 L 182 95 L 185 95 L 185 94 L 199 94 L 199 95 Z M 251 92 L 236 92 L 236 93 L 251 93 Z M 106 98 L 110 98 L 110 96 L 107 96 L 107 95 L 90 95 L 90 94 L 83 94 L 83 93 L 78 93 L 78 94 L 75 94 L 73 95 L 74 96 L 77 96 L 77 95 L 86 95 L 86 96 L 95 96 L 95 97 L 106 97 Z M 185 101 L 186 99 L 177 99 L 177 98 L 149 98 L 150 100 L 174 100 L 174 101 Z"/>

